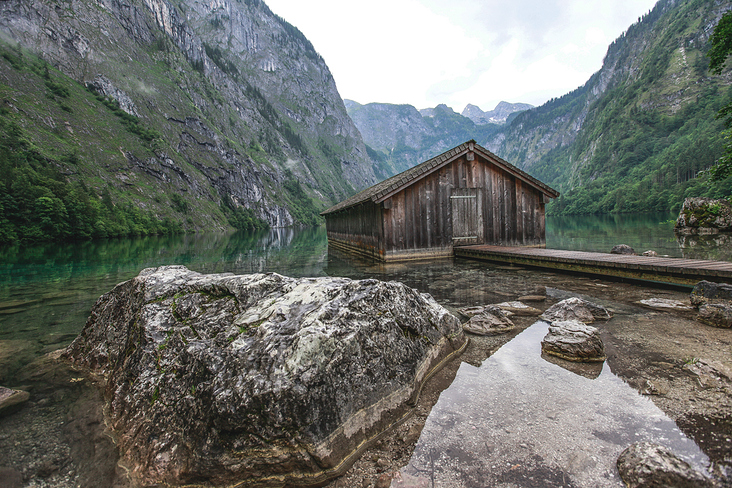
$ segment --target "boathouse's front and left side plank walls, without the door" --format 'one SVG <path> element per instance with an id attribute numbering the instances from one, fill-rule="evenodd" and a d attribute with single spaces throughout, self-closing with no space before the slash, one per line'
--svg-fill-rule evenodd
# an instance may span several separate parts
<path id="1" fill-rule="evenodd" d="M 450 196 L 454 188 L 481 189 L 482 242 L 502 246 L 545 243 L 543 194 L 492 163 L 465 156 L 391 196 L 326 216 L 334 246 L 380 260 L 452 254 Z"/>

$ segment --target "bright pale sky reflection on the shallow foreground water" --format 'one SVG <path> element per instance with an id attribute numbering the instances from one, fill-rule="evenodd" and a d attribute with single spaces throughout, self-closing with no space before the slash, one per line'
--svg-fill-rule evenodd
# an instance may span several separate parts
<path id="1" fill-rule="evenodd" d="M 589 379 L 543 359 L 547 330 L 537 322 L 460 366 L 392 487 L 620 487 L 617 457 L 642 440 L 704 469 L 697 445 L 607 365 Z"/>

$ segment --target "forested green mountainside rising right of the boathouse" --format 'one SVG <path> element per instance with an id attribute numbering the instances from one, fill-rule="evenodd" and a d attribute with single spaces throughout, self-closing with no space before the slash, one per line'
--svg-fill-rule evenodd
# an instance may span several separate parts
<path id="1" fill-rule="evenodd" d="M 687 196 L 729 195 L 729 179 L 696 175 L 722 152 L 716 113 L 732 98 L 732 73 L 710 75 L 705 53 L 731 8 L 659 1 L 585 85 L 478 142 L 560 190 L 553 213 L 677 211 Z"/>

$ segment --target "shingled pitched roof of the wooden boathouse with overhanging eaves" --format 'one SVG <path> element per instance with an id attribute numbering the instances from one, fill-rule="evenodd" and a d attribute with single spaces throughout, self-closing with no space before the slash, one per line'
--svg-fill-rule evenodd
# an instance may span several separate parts
<path id="1" fill-rule="evenodd" d="M 558 191 L 550 188 L 549 186 L 545 185 L 528 173 L 521 171 L 511 163 L 499 158 L 498 156 L 496 156 L 486 148 L 480 146 L 471 139 L 470 141 L 460 144 L 459 146 L 454 147 L 449 151 L 440 154 L 439 156 L 435 156 L 434 158 L 429 159 L 424 163 L 418 164 L 417 166 L 414 166 L 413 168 L 410 168 L 406 171 L 403 171 L 398 175 L 387 178 L 381 183 L 377 183 L 374 186 L 366 188 L 365 190 L 353 195 L 352 197 L 347 198 L 346 200 L 343 200 L 342 202 L 330 207 L 328 210 L 321 212 L 320 215 L 327 215 L 333 212 L 338 212 L 340 210 L 356 206 L 369 200 L 374 203 L 381 203 L 393 194 L 401 191 L 402 189 L 413 184 L 414 182 L 419 181 L 428 174 L 437 171 L 443 166 L 450 164 L 451 162 L 455 161 L 456 159 L 463 156 L 464 154 L 467 154 L 470 151 L 474 151 L 475 153 L 482 156 L 484 159 L 502 168 L 504 171 L 511 173 L 516 178 L 519 178 L 527 184 L 535 187 L 545 195 L 551 198 L 556 198 L 557 196 L 559 196 Z"/>

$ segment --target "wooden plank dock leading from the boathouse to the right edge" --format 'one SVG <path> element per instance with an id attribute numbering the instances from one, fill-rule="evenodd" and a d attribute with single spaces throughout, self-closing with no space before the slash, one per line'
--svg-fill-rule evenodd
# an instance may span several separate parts
<path id="1" fill-rule="evenodd" d="M 455 247 L 454 253 L 461 258 L 677 285 L 693 286 L 701 280 L 732 283 L 732 263 L 727 261 L 486 245 Z"/>

